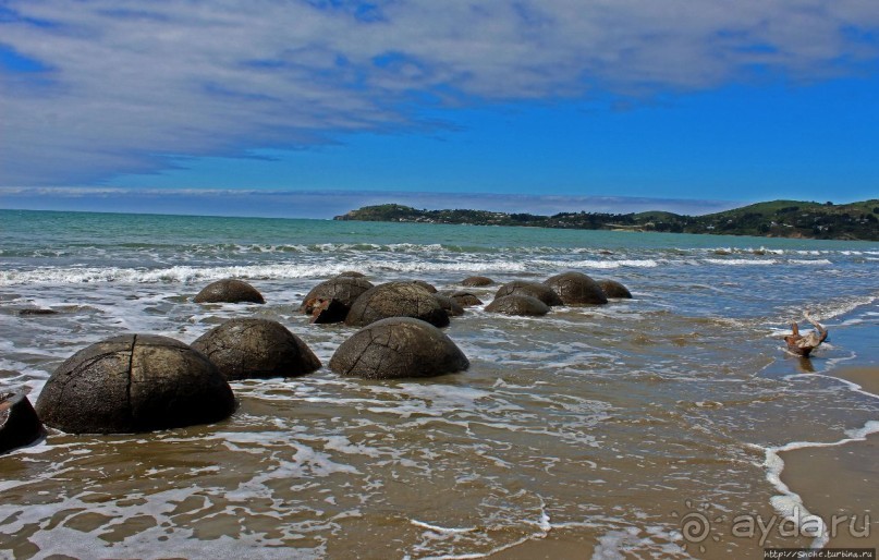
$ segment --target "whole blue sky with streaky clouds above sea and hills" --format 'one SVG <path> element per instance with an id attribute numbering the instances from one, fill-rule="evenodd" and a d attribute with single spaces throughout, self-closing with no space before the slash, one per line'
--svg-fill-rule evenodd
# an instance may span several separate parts
<path id="1" fill-rule="evenodd" d="M 0 0 L 0 208 L 879 197 L 876 0 Z"/>

